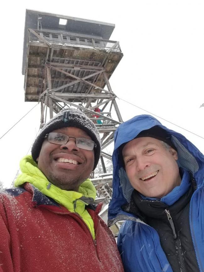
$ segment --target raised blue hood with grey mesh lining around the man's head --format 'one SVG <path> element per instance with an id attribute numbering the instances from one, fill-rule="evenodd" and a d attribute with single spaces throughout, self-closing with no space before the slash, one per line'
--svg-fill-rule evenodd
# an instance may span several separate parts
<path id="1" fill-rule="evenodd" d="M 150 129 L 153 126 L 163 128 L 171 141 L 177 148 L 178 165 L 190 171 L 197 183 L 197 187 L 202 186 L 204 178 L 204 155 L 183 135 L 175 131 L 169 130 L 163 126 L 157 119 L 151 115 L 138 115 L 132 119 L 122 123 L 114 135 L 114 151 L 113 151 L 113 196 L 109 204 L 108 225 L 114 224 L 116 221 L 128 219 L 133 216 L 130 213 L 122 211 L 121 206 L 130 202 L 133 187 L 130 184 L 126 172 L 123 168 L 119 147 L 133 140 L 141 131 Z M 201 171 L 202 170 L 202 171 Z M 134 216 L 135 217 L 135 216 Z"/>

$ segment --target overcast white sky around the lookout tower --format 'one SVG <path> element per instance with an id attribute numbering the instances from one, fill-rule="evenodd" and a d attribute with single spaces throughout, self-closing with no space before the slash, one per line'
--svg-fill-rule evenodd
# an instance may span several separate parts
<path id="1" fill-rule="evenodd" d="M 110 39 L 120 42 L 124 56 L 110 79 L 113 92 L 201 136 L 158 118 L 204 153 L 204 107 L 199 108 L 204 103 L 203 1 L 5 1 L 0 18 L 0 137 L 36 104 L 24 102 L 21 74 L 26 8 L 115 24 Z M 147 114 L 117 102 L 123 120 Z M 0 139 L 0 180 L 5 187 L 10 187 L 39 125 L 36 106 Z"/>

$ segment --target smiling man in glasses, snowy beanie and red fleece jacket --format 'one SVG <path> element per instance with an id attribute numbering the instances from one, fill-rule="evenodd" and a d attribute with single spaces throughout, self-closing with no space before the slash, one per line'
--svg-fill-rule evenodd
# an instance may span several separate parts
<path id="1" fill-rule="evenodd" d="M 98 216 L 89 176 L 100 156 L 97 128 L 65 109 L 20 162 L 16 188 L 0 193 L 0 271 L 123 271 L 114 236 Z"/>

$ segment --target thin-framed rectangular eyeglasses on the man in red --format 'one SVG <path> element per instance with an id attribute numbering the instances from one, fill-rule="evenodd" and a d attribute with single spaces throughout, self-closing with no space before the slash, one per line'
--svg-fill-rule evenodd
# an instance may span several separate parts
<path id="1" fill-rule="evenodd" d="M 69 141 L 69 138 L 74 138 L 76 146 L 81 149 L 85 150 L 93 150 L 94 147 L 96 147 L 96 143 L 94 141 L 86 139 L 86 138 L 80 138 L 80 137 L 70 137 L 68 135 L 58 133 L 58 132 L 50 132 L 46 134 L 45 138 L 52 143 L 57 145 L 66 145 L 66 143 Z"/>

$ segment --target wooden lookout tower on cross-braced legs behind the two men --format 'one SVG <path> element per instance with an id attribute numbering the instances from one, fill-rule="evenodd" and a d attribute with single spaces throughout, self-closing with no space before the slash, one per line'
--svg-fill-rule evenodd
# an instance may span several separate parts
<path id="1" fill-rule="evenodd" d="M 41 127 L 47 115 L 51 118 L 63 108 L 84 111 L 101 134 L 104 176 L 103 157 L 111 159 L 104 149 L 113 141 L 115 129 L 122 122 L 109 83 L 123 56 L 119 42 L 109 40 L 114 27 L 34 10 L 26 10 L 25 16 L 22 65 L 25 101 L 41 103 Z"/>

